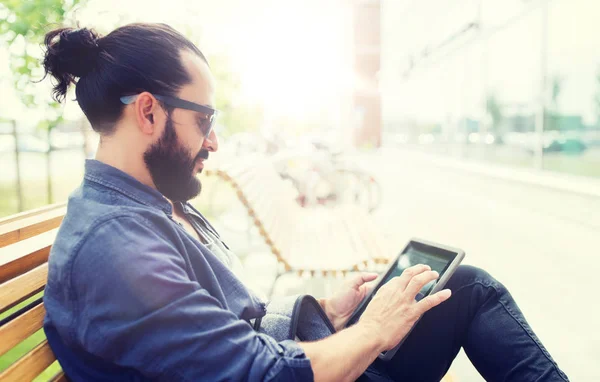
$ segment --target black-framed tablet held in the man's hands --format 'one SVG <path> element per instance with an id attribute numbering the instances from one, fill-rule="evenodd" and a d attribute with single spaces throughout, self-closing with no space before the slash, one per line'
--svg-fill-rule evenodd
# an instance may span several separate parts
<path id="1" fill-rule="evenodd" d="M 348 322 L 347 326 L 352 325 L 358 321 L 360 315 L 367 307 L 372 296 L 374 296 L 377 292 L 377 289 L 379 289 L 383 284 L 390 281 L 392 278 L 400 276 L 406 268 L 412 267 L 413 265 L 426 264 L 431 267 L 431 270 L 436 271 L 440 274 L 440 277 L 437 280 L 433 280 L 425 284 L 425 286 L 421 288 L 421 291 L 419 292 L 419 294 L 417 294 L 416 299 L 421 300 L 423 297 L 426 297 L 427 295 L 429 295 L 435 284 L 437 284 L 438 280 L 442 277 L 444 272 L 448 269 L 448 267 L 457 255 L 458 254 L 453 251 L 449 251 L 418 241 L 411 241 L 410 243 L 408 243 L 406 248 L 404 248 L 402 253 L 396 258 L 396 260 L 390 265 L 383 279 L 377 284 L 377 288 L 373 290 L 368 299 L 365 300 L 365 303 L 361 304 L 357 312 L 352 316 L 352 318 Z"/>

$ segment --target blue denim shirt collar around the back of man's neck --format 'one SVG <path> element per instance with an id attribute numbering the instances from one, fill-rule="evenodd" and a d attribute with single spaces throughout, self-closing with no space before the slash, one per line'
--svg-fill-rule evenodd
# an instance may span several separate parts
<path id="1" fill-rule="evenodd" d="M 146 186 L 131 175 L 95 159 L 86 159 L 84 178 L 115 190 L 138 203 L 173 213 L 171 203 L 160 192 Z"/>

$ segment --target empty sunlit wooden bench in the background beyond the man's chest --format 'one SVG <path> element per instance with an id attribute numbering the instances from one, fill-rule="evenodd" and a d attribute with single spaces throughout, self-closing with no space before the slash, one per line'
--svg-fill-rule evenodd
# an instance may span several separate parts
<path id="1" fill-rule="evenodd" d="M 366 212 L 352 205 L 301 207 L 295 189 L 264 157 L 219 164 L 206 174 L 233 187 L 281 265 L 277 277 L 288 272 L 345 275 L 381 268 L 393 255 Z"/>

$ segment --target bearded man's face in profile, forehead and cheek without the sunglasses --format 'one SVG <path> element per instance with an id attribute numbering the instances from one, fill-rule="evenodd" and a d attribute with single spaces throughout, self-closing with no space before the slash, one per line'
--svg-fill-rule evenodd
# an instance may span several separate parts
<path id="1" fill-rule="evenodd" d="M 177 97 L 214 108 L 214 80 L 208 66 L 188 52 L 182 60 L 192 82 Z M 209 152 L 218 149 L 214 131 L 204 137 L 198 126 L 203 117 L 191 110 L 169 109 L 161 137 L 144 153 L 154 185 L 171 201 L 187 201 L 200 194 L 202 186 L 196 176 Z"/>

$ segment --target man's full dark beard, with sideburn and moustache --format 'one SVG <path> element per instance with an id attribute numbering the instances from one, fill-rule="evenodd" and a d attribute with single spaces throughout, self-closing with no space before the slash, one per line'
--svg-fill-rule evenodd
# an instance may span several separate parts
<path id="1" fill-rule="evenodd" d="M 163 135 L 144 153 L 144 162 L 156 189 L 172 202 L 185 202 L 200 194 L 202 184 L 194 174 L 200 158 L 207 159 L 208 151 L 202 149 L 193 156 L 183 147 L 170 115 Z"/>

